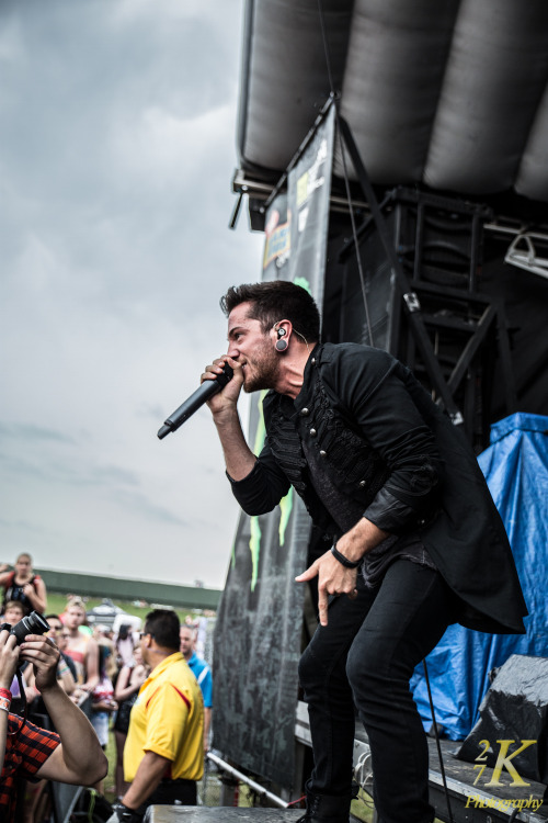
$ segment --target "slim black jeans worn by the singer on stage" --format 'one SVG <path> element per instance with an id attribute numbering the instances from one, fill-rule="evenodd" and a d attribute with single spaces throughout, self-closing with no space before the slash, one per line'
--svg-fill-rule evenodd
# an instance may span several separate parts
<path id="1" fill-rule="evenodd" d="M 336 597 L 299 664 L 315 767 L 310 789 L 347 796 L 354 703 L 372 751 L 375 804 L 383 823 L 430 823 L 429 751 L 409 689 L 413 669 L 454 621 L 453 595 L 426 566 L 397 560 L 380 586 L 361 575 L 355 600 Z"/>

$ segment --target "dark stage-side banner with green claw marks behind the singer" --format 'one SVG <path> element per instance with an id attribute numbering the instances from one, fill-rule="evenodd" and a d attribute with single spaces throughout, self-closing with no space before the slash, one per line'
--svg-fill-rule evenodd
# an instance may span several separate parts
<path id="1" fill-rule="evenodd" d="M 321 305 L 329 223 L 334 110 L 289 173 L 265 222 L 263 280 L 292 280 Z M 282 319 L 282 318 L 281 318 Z M 249 443 L 264 442 L 253 395 Z M 293 489 L 269 515 L 240 516 L 215 631 L 214 745 L 240 768 L 295 786 L 304 586 L 310 519 Z"/>

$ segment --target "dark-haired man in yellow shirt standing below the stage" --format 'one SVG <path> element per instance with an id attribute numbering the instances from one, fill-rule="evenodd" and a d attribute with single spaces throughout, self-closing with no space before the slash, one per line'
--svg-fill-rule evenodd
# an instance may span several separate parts
<path id="1" fill-rule="evenodd" d="M 132 785 L 115 807 L 124 823 L 139 821 L 149 805 L 196 804 L 196 780 L 204 771 L 204 701 L 179 651 L 179 629 L 174 611 L 156 609 L 140 635 L 150 675 L 132 709 L 124 747 L 124 777 Z"/>

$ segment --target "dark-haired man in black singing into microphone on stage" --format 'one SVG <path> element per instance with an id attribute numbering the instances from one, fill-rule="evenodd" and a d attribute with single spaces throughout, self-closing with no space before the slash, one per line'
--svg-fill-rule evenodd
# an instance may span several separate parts
<path id="1" fill-rule="evenodd" d="M 406 367 L 374 348 L 319 342 L 304 289 L 231 288 L 221 307 L 228 352 L 202 380 L 233 369 L 208 401 L 233 493 L 244 511 L 262 515 L 293 485 L 329 541 L 297 577 L 318 578 L 320 618 L 299 665 L 315 760 L 306 819 L 347 823 L 355 703 L 380 820 L 431 823 L 413 669 L 452 622 L 524 631 L 525 602 L 483 475 Z M 272 390 L 259 456 L 238 418 L 242 387 Z"/>

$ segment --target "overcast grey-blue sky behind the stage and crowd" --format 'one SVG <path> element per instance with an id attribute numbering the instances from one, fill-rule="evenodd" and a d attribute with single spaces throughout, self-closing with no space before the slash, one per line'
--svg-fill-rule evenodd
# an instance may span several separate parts
<path id="1" fill-rule="evenodd" d="M 221 588 L 206 408 L 163 419 L 261 277 L 236 195 L 243 0 L 0 4 L 0 560 Z"/>

